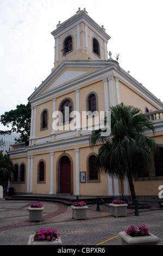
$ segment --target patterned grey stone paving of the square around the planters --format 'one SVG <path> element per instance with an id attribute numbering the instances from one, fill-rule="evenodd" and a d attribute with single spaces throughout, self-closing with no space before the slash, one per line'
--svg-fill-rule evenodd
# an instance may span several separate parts
<path id="1" fill-rule="evenodd" d="M 29 222 L 30 201 L 0 199 L 0 245 L 27 245 L 30 235 L 40 228 L 54 228 L 60 233 L 62 245 L 92 246 L 121 245 L 118 232 L 130 225 L 145 224 L 150 233 L 160 238 L 163 245 L 163 208 L 153 204 L 151 209 L 128 209 L 126 217 L 110 215 L 109 204 L 88 205 L 87 220 L 73 220 L 71 207 L 59 203 L 43 203 L 42 222 Z"/>

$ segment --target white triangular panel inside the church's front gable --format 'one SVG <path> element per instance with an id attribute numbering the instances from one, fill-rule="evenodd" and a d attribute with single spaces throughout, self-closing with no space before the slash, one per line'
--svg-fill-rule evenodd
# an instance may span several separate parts
<path id="1" fill-rule="evenodd" d="M 61 84 L 64 84 L 68 81 L 71 81 L 79 76 L 82 76 L 86 74 L 86 71 L 65 71 L 64 74 L 62 74 L 53 84 L 51 87 L 48 88 L 48 90 L 51 90 L 57 86 L 60 86 Z"/>

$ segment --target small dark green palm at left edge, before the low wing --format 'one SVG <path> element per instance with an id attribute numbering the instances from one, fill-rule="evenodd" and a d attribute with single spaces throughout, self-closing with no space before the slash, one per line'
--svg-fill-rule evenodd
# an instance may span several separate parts
<path id="1" fill-rule="evenodd" d="M 2 151 L 0 151 L 0 185 L 3 188 L 7 187 L 8 181 L 12 182 L 14 171 L 15 167 L 10 156 L 8 154 L 3 156 Z"/>

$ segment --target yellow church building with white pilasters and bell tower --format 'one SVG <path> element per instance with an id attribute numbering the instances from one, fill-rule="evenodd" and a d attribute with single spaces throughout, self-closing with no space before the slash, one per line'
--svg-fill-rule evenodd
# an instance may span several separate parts
<path id="1" fill-rule="evenodd" d="M 127 180 L 121 182 L 98 173 L 93 166 L 98 147 L 90 148 L 91 127 L 100 123 L 101 112 L 120 102 L 154 113 L 163 108 L 163 103 L 124 71 L 111 58 L 111 52 L 108 56 L 110 36 L 85 9 L 59 22 L 52 35 L 54 68 L 28 99 L 32 106 L 29 145 L 13 145 L 9 152 L 17 170 L 12 183 L 14 191 L 127 196 L 130 193 Z M 154 137 L 160 147 L 161 122 L 161 119 L 155 121 Z M 158 195 L 163 172 L 159 179 L 154 172 L 153 167 L 151 176 L 137 178 L 137 196 Z"/>

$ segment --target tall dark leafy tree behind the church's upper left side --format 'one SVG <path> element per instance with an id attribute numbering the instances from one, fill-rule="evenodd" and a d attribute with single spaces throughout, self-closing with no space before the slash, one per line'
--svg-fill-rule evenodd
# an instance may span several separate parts
<path id="1" fill-rule="evenodd" d="M 5 126 L 9 127 L 11 125 L 11 130 L 0 131 L 1 134 L 10 134 L 11 132 L 20 133 L 20 139 L 17 141 L 27 141 L 30 135 L 30 103 L 27 105 L 17 105 L 16 109 L 9 112 L 5 112 L 1 115 L 0 122 Z"/>

